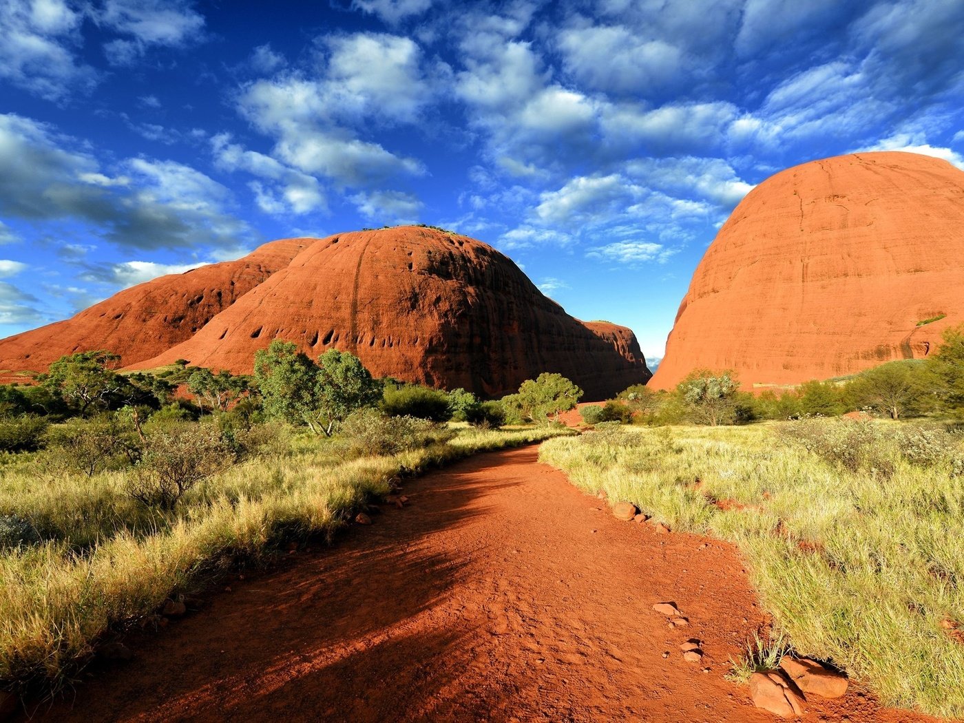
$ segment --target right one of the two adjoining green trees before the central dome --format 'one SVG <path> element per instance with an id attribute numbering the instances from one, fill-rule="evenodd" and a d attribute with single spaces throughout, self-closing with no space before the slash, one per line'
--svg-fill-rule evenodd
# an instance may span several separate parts
<path id="1" fill-rule="evenodd" d="M 352 412 L 378 404 L 382 387 L 364 368 L 362 360 L 349 352 L 329 349 L 318 357 L 318 365 L 315 419 L 331 436 L 335 426 Z"/>

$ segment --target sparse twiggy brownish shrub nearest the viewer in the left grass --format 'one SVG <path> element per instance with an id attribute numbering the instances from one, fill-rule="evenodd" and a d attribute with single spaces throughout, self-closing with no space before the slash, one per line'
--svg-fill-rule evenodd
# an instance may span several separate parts
<path id="1" fill-rule="evenodd" d="M 148 507 L 170 511 L 185 493 L 232 461 L 215 425 L 172 424 L 147 438 L 127 492 Z"/>

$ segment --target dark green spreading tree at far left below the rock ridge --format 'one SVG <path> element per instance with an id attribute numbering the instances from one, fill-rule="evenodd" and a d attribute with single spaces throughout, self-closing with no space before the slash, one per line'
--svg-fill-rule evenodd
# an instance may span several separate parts
<path id="1" fill-rule="evenodd" d="M 71 354 L 50 364 L 41 384 L 59 394 L 80 415 L 90 409 L 107 409 L 112 395 L 125 384 L 114 371 L 119 362 L 117 354 L 103 350 Z"/>

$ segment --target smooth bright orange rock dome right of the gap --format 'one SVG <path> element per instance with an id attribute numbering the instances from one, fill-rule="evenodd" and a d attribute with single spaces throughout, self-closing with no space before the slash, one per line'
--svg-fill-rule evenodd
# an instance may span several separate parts
<path id="1" fill-rule="evenodd" d="M 937 321 L 922 321 L 946 314 Z M 703 257 L 651 386 L 795 385 L 922 358 L 964 321 L 964 173 L 896 151 L 776 174 Z"/>

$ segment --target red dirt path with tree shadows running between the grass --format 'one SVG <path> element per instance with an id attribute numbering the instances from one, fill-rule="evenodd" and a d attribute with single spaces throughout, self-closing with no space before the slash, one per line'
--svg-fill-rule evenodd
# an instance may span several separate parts
<path id="1" fill-rule="evenodd" d="M 723 679 L 764 624 L 734 549 L 618 522 L 536 458 L 483 454 L 410 482 L 404 510 L 232 583 L 38 717 L 774 720 Z M 670 629 L 663 601 L 690 627 Z M 680 653 L 689 637 L 700 664 Z M 919 718 L 851 686 L 805 719 Z"/>

